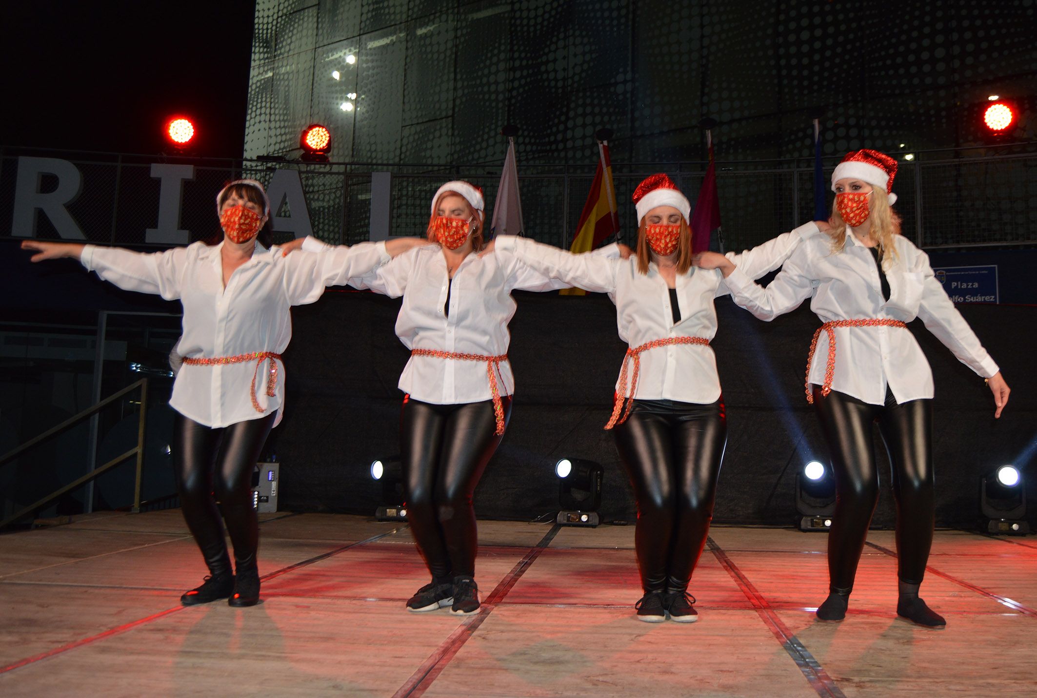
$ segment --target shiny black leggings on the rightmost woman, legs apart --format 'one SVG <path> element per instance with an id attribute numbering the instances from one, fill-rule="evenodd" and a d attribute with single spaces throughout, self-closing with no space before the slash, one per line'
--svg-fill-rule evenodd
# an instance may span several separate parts
<path id="1" fill-rule="evenodd" d="M 833 390 L 822 396 L 813 386 L 814 406 L 832 450 L 836 477 L 836 513 L 829 531 L 829 585 L 849 593 L 857 564 L 878 502 L 878 470 L 871 445 L 871 425 L 886 443 L 897 502 L 897 574 L 900 581 L 921 584 L 932 546 L 934 517 L 932 476 L 932 401 L 898 405 L 887 391 L 885 405 L 871 405 Z"/>

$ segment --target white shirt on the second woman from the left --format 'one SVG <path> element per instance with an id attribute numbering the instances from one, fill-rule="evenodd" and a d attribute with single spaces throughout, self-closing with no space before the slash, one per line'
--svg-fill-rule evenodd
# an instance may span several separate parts
<path id="1" fill-rule="evenodd" d="M 334 248 L 308 237 L 303 250 L 315 252 Z M 612 244 L 587 256 L 618 257 L 619 250 Z M 391 298 L 403 296 L 396 318 L 396 336 L 408 349 L 481 356 L 508 352 L 511 341 L 508 322 L 515 314 L 511 291 L 551 291 L 568 287 L 500 248 L 485 257 L 469 255 L 451 280 L 446 258 L 438 244 L 414 248 L 372 273 L 349 283 Z M 444 312 L 448 289 L 449 314 Z M 415 400 L 436 405 L 482 402 L 492 397 L 484 361 L 435 356 L 411 356 L 399 377 L 399 389 Z M 502 396 L 514 392 L 514 377 L 508 361 L 500 363 L 498 390 Z"/>

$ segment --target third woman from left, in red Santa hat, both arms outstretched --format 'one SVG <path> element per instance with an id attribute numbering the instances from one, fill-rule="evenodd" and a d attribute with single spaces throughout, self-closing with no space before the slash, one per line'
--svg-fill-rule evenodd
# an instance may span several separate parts
<path id="1" fill-rule="evenodd" d="M 495 253 L 616 303 L 619 337 L 630 349 L 616 384 L 606 429 L 638 500 L 636 550 L 647 622 L 698 619 L 688 585 L 712 518 L 717 477 L 727 442 L 717 362 L 713 298 L 726 294 L 721 274 L 692 266 L 691 204 L 665 174 L 634 195 L 638 245 L 625 260 L 571 255 L 525 238 L 500 236 Z M 754 278 L 772 271 L 817 233 L 811 223 L 764 244 L 731 254 Z M 633 366 L 630 366 L 633 365 Z M 627 375 L 629 373 L 629 381 Z"/>

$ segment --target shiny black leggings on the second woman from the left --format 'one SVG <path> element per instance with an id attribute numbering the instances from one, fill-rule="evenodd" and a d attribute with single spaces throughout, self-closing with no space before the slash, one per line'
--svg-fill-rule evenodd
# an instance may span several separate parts
<path id="1" fill-rule="evenodd" d="M 501 398 L 504 421 L 511 398 Z M 407 519 L 437 580 L 475 576 L 478 548 L 472 493 L 497 450 L 494 403 L 433 405 L 403 399 L 400 460 Z"/>

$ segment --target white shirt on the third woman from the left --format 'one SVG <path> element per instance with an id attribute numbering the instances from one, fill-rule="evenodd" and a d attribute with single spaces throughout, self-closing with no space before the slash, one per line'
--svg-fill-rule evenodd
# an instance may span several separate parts
<path id="1" fill-rule="evenodd" d="M 740 255 L 728 253 L 746 273 L 758 279 L 781 266 L 804 237 L 817 233 L 813 223 L 748 250 Z M 616 304 L 619 337 L 636 348 L 672 337 L 700 337 L 712 340 L 717 335 L 717 310 L 713 298 L 728 293 L 723 274 L 717 270 L 692 267 L 676 278 L 680 321 L 673 322 L 670 289 L 654 263 L 648 272 L 638 270 L 637 256 L 628 259 L 604 259 L 572 255 L 546 244 L 507 235 L 497 237 L 497 254 L 510 253 L 531 267 L 588 291 L 608 293 Z M 627 395 L 628 386 L 616 389 Z M 717 360 L 708 346 L 676 344 L 649 349 L 641 354 L 637 395 L 642 400 L 673 400 L 708 404 L 720 399 Z"/>

